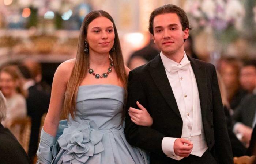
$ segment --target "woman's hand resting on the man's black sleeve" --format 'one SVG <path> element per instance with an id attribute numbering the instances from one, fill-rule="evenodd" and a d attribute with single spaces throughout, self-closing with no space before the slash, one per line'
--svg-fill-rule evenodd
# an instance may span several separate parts
<path id="1" fill-rule="evenodd" d="M 153 124 L 153 120 L 150 114 L 147 112 L 147 109 L 144 108 L 139 103 L 139 101 L 137 101 L 136 103 L 140 110 L 132 107 L 129 108 L 129 116 L 131 117 L 132 122 L 140 126 L 151 126 Z"/>

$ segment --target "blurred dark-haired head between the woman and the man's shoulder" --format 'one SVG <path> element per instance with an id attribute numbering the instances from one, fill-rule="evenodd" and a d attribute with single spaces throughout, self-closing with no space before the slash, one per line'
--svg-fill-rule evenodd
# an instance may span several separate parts
<path id="1" fill-rule="evenodd" d="M 146 64 L 150 60 L 154 59 L 159 54 L 158 48 L 155 46 L 153 39 L 150 40 L 149 44 L 141 50 L 133 52 L 127 62 L 129 69 L 135 69 L 141 65 Z"/>

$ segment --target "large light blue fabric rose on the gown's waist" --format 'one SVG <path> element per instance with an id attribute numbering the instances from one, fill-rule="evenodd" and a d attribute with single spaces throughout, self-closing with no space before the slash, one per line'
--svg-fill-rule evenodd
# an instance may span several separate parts
<path id="1" fill-rule="evenodd" d="M 92 120 L 84 120 L 82 124 L 72 122 L 69 128 L 64 129 L 58 142 L 62 149 L 63 163 L 85 163 L 89 157 L 104 150 L 101 143 L 103 134 Z"/>

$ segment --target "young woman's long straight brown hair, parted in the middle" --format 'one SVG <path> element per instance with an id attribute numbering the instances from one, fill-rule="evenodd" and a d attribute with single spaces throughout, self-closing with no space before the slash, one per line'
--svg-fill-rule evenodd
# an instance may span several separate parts
<path id="1" fill-rule="evenodd" d="M 68 119 L 68 115 L 71 114 L 71 117 L 74 118 L 76 111 L 76 96 L 78 93 L 78 87 L 83 81 L 84 77 L 87 74 L 87 67 L 89 63 L 89 53 L 84 52 L 84 41 L 87 36 L 88 25 L 97 17 L 106 17 L 108 18 L 114 26 L 114 51 L 110 51 L 110 56 L 113 60 L 114 67 L 116 69 L 117 76 L 125 87 L 127 92 L 127 75 L 125 73 L 124 60 L 121 51 L 120 41 L 117 34 L 116 25 L 114 24 L 113 18 L 103 10 L 91 11 L 83 20 L 82 26 L 80 28 L 80 35 L 78 40 L 78 50 L 76 54 L 76 61 L 73 67 L 71 76 L 67 84 L 67 90 L 65 93 L 64 99 L 64 115 Z M 126 93 L 125 93 L 126 95 Z"/>

